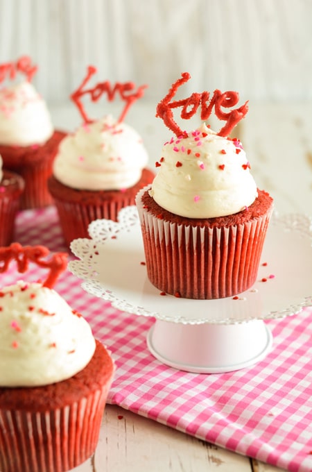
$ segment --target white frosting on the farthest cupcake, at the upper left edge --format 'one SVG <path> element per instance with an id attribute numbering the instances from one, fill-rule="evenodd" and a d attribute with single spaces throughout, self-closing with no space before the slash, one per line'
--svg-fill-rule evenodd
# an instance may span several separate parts
<path id="1" fill-rule="evenodd" d="M 45 101 L 29 82 L 0 89 L 0 143 L 44 144 L 54 128 Z"/>

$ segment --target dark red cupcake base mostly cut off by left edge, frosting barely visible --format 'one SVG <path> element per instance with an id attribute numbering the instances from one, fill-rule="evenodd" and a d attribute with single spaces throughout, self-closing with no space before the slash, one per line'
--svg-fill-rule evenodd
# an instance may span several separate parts
<path id="1" fill-rule="evenodd" d="M 0 246 L 8 246 L 13 240 L 15 218 L 20 208 L 23 191 L 23 178 L 2 169 L 0 155 Z"/>

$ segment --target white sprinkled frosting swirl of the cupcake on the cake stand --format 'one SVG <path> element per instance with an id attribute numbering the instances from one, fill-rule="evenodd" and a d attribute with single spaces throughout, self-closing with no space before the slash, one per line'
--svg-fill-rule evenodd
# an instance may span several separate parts
<path id="1" fill-rule="evenodd" d="M 188 218 L 240 212 L 257 198 L 257 185 L 239 140 L 205 124 L 164 144 L 150 195 L 165 210 Z"/>

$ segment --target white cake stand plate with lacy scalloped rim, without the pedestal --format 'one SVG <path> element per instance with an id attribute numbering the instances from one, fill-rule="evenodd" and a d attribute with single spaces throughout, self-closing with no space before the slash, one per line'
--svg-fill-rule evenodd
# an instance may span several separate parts
<path id="1" fill-rule="evenodd" d="M 236 300 L 160 296 L 142 264 L 144 249 L 135 206 L 121 210 L 118 223 L 93 221 L 89 235 L 92 239 L 71 243 L 79 260 L 70 262 L 69 269 L 84 280 L 83 289 L 121 311 L 175 323 L 232 324 L 286 317 L 312 305 L 312 225 L 301 214 L 272 217 L 257 282 Z"/>

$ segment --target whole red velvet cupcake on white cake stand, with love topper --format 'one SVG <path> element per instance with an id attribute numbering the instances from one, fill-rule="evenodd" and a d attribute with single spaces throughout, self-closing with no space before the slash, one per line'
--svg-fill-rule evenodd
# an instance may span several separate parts
<path id="1" fill-rule="evenodd" d="M 225 114 L 220 106 L 235 105 L 238 95 L 218 90 L 209 106 L 208 92 L 169 101 L 188 78 L 182 74 L 157 106 L 157 115 L 176 136 L 164 144 L 152 185 L 136 199 L 146 268 L 162 292 L 224 298 L 244 292 L 257 279 L 272 198 L 257 189 L 241 142 L 228 137 L 247 105 Z M 182 106 L 181 117 L 189 118 L 200 103 L 202 119 L 212 105 L 217 117 L 227 119 L 219 133 L 205 123 L 187 133 L 173 121 L 171 108 Z"/>

